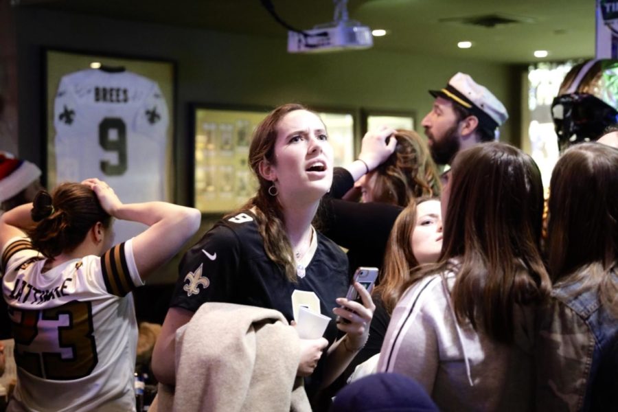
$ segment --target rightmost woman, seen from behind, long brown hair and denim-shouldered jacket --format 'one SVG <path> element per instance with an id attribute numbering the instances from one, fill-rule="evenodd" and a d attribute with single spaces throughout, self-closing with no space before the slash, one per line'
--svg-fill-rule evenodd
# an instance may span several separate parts
<path id="1" fill-rule="evenodd" d="M 539 409 L 618 404 L 618 150 L 569 148 L 551 174 L 547 260 L 554 282 L 538 334 Z"/>

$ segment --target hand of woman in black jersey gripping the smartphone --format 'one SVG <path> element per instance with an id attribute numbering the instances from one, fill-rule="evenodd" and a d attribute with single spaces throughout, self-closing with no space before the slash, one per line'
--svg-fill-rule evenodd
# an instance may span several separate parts
<path id="1" fill-rule="evenodd" d="M 361 296 L 363 304 L 345 299 L 345 297 L 339 297 L 337 303 L 342 307 L 334 308 L 332 312 L 350 321 L 350 323 L 337 323 L 337 328 L 347 333 L 347 339 L 349 339 L 352 347 L 362 347 L 369 336 L 369 323 L 371 323 L 371 318 L 374 317 L 376 305 L 363 285 L 354 282 L 354 288 Z"/>

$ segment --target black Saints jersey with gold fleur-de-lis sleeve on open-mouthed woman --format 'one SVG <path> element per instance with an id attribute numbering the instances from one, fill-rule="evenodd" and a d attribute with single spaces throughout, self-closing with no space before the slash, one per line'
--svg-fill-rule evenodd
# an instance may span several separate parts
<path id="1" fill-rule="evenodd" d="M 349 284 L 347 258 L 332 240 L 316 233 L 313 258 L 304 277 L 293 283 L 266 255 L 251 211 L 220 220 L 183 257 L 171 306 L 195 312 L 207 301 L 227 302 L 279 310 L 291 321 L 292 297 L 301 291 L 316 295 L 320 312 L 334 319 L 335 299 L 345 297 Z M 332 342 L 335 336 L 332 321 L 325 337 Z"/>

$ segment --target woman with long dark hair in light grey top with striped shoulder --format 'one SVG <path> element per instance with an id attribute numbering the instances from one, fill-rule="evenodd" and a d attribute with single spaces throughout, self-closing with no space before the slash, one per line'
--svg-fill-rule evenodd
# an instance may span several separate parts
<path id="1" fill-rule="evenodd" d="M 459 152 L 449 175 L 439 262 L 402 286 L 378 371 L 414 378 L 443 411 L 528 410 L 534 308 L 549 293 L 540 172 L 488 143 Z"/>

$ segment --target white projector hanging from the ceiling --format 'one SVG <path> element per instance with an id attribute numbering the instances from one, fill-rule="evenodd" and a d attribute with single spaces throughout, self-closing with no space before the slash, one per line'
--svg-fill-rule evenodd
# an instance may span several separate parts
<path id="1" fill-rule="evenodd" d="M 369 27 L 347 19 L 347 0 L 334 0 L 334 3 L 334 21 L 316 25 L 311 30 L 288 32 L 288 52 L 336 52 L 345 49 L 368 49 L 374 45 Z"/>

